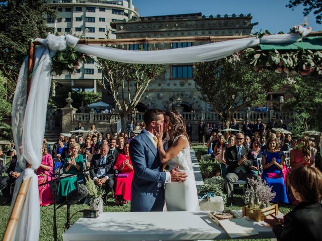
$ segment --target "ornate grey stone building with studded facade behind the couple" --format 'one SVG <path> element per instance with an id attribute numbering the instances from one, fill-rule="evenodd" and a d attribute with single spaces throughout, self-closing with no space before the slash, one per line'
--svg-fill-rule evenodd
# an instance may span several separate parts
<path id="1" fill-rule="evenodd" d="M 249 15 L 202 16 L 201 13 L 140 17 L 111 23 L 117 39 L 163 38 L 192 36 L 249 35 L 254 25 Z M 185 48 L 207 42 L 181 42 L 144 44 L 144 50 Z M 121 49 L 137 50 L 138 44 L 119 45 Z M 193 80 L 193 63 L 167 65 L 166 71 L 151 81 L 148 90 L 137 105 L 143 112 L 147 108 L 172 109 L 175 106 L 183 112 L 212 111 L 209 103 L 202 101 Z M 103 90 L 104 93 L 104 90 Z M 107 92 L 103 101 L 111 102 Z"/>

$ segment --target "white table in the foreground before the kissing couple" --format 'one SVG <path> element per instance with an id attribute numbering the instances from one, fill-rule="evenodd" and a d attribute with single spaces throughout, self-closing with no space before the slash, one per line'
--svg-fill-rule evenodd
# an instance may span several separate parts
<path id="1" fill-rule="evenodd" d="M 251 223 L 259 234 L 244 238 L 275 238 L 272 228 L 264 222 Z M 208 218 L 207 211 L 104 212 L 98 218 L 79 218 L 63 233 L 63 241 L 197 239 L 229 239 L 229 236 Z"/>

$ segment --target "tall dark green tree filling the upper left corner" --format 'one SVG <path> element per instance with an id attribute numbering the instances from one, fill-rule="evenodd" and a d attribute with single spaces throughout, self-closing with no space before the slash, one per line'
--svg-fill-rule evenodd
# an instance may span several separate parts
<path id="1" fill-rule="evenodd" d="M 51 31 L 45 17 L 54 18 L 55 10 L 42 0 L 0 2 L 0 71 L 8 79 L 6 100 L 13 99 L 28 41 L 44 38 Z"/>

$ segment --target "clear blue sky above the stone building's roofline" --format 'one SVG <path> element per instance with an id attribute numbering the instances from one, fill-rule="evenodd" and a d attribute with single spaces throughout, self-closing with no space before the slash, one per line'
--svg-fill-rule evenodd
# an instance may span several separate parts
<path id="1" fill-rule="evenodd" d="M 253 31 L 268 30 L 272 34 L 283 31 L 288 33 L 294 25 L 304 22 L 303 6 L 294 11 L 286 8 L 288 0 L 132 0 L 140 16 L 160 16 L 173 14 L 199 13 L 202 15 L 251 14 L 252 23 L 258 22 Z M 322 30 L 322 25 L 315 23 L 310 14 L 308 26 L 313 31 Z M 257 30 L 257 31 L 256 31 Z"/>

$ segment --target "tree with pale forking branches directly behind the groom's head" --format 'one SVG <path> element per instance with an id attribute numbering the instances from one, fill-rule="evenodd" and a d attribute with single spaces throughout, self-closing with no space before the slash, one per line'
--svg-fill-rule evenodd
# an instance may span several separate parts
<path id="1" fill-rule="evenodd" d="M 104 59 L 98 59 L 98 66 L 103 72 L 103 80 L 99 82 L 112 95 L 124 132 L 127 115 L 132 113 L 149 83 L 165 70 L 165 66 L 126 64 Z"/>

